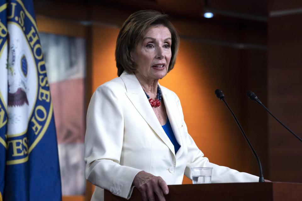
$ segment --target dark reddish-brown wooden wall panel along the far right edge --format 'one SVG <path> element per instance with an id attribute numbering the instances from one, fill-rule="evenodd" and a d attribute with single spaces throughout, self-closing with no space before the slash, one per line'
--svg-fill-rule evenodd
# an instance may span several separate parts
<path id="1" fill-rule="evenodd" d="M 300 2 L 300 7 L 302 3 Z M 270 9 L 274 9 L 276 4 Z M 302 14 L 271 17 L 268 24 L 268 108 L 302 137 Z M 268 117 L 271 179 L 302 182 L 301 142 Z"/>

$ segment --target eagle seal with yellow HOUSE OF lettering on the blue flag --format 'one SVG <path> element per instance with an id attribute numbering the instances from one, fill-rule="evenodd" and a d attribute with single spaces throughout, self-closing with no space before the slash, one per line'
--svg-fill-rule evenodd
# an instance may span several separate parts
<path id="1" fill-rule="evenodd" d="M 49 126 L 53 106 L 36 22 L 20 0 L 8 3 L 7 8 L 10 41 L 6 165 L 13 165 L 28 160 Z"/>

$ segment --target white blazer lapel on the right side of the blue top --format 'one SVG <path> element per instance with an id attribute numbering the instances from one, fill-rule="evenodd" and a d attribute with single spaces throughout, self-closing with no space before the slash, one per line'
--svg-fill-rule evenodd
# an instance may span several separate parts
<path id="1" fill-rule="evenodd" d="M 162 92 L 162 97 L 163 97 L 163 100 L 164 100 L 164 103 L 165 103 L 167 115 L 168 115 L 172 130 L 173 130 L 173 133 L 175 135 L 175 138 L 176 138 L 178 144 L 180 145 L 180 148 L 178 149 L 178 151 L 176 153 L 176 159 L 177 159 L 182 155 L 182 152 L 183 152 L 183 149 L 184 149 L 183 148 L 183 142 L 182 142 L 182 135 L 180 134 L 180 131 L 179 131 L 179 127 L 181 127 L 182 124 L 180 124 L 181 122 L 177 124 L 177 121 L 176 121 L 176 118 L 175 118 L 175 117 L 177 117 L 177 115 L 179 116 L 178 108 L 176 106 L 176 102 L 175 102 L 174 97 L 173 97 L 173 99 L 171 99 L 171 97 L 166 95 L 165 91 L 162 90 L 162 87 L 160 85 L 159 85 L 159 88 Z"/>

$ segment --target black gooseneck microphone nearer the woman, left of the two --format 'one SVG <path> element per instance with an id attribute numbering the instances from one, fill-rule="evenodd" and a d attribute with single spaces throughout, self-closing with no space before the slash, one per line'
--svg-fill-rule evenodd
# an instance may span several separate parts
<path id="1" fill-rule="evenodd" d="M 224 99 L 224 94 L 222 93 L 221 90 L 219 89 L 216 89 L 215 90 L 215 95 L 217 96 L 217 98 L 219 98 L 220 100 L 222 100 L 225 104 L 226 104 L 226 107 L 229 109 L 229 111 L 231 112 L 232 116 L 234 117 L 238 127 L 240 128 L 240 131 L 241 133 L 243 134 L 244 138 L 246 139 L 246 141 L 248 142 L 249 144 L 249 147 L 252 149 L 252 152 L 254 154 L 254 156 L 256 157 L 256 160 L 258 162 L 258 166 L 259 166 L 259 171 L 260 171 L 260 177 L 259 177 L 259 182 L 264 182 L 264 178 L 263 178 L 263 173 L 262 173 L 262 167 L 261 167 L 261 163 L 260 163 L 260 160 L 259 160 L 259 157 L 255 151 L 255 149 L 252 147 L 251 143 L 249 142 L 249 139 L 248 137 L 246 136 L 246 134 L 244 133 L 240 123 L 238 122 L 235 114 L 233 113 L 233 111 L 231 110 L 231 108 L 228 106 L 228 104 L 226 103 L 226 100 Z"/>

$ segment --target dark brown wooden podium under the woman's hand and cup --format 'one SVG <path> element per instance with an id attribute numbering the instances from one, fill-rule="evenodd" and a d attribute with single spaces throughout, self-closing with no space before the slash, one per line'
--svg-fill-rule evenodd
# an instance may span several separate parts
<path id="1" fill-rule="evenodd" d="M 301 201 L 302 183 L 263 182 L 263 183 L 211 183 L 169 185 L 166 201 Z M 104 191 L 104 201 L 118 201 L 125 198 Z M 140 192 L 134 188 L 130 201 L 141 201 Z M 158 200 L 156 198 L 156 200 Z"/>

